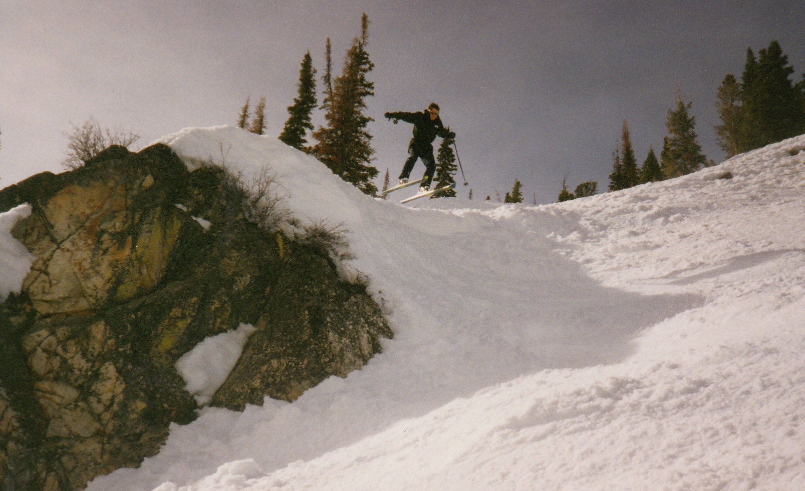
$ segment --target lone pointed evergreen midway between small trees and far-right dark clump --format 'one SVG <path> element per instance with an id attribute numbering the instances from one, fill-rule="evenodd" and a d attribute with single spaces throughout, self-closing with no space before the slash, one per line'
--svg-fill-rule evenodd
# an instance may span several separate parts
<path id="1" fill-rule="evenodd" d="M 679 93 L 676 109 L 668 109 L 666 126 L 669 136 L 663 143 L 660 163 L 665 179 L 698 171 L 707 163 L 707 158 L 701 153 L 702 147 L 696 142 L 696 118 L 688 113 L 692 104 L 685 104 Z"/>

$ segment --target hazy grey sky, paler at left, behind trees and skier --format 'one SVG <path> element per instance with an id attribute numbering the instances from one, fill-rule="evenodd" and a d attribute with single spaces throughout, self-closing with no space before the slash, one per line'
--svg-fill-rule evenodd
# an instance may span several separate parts
<path id="1" fill-rule="evenodd" d="M 398 175 L 411 134 L 382 114 L 436 101 L 458 134 L 460 196 L 472 188 L 476 200 L 520 179 L 526 202 L 550 203 L 564 175 L 571 190 L 596 180 L 605 191 L 622 122 L 642 162 L 662 147 L 677 88 L 720 162 L 716 89 L 740 76 L 746 48 L 777 39 L 796 80 L 805 68 L 800 1 L 3 0 L 0 185 L 61 171 L 64 132 L 90 117 L 144 145 L 234 124 L 246 97 L 265 96 L 266 133 L 278 135 L 304 53 L 322 75 L 329 37 L 340 72 L 363 12 L 378 187 L 386 168 Z"/>

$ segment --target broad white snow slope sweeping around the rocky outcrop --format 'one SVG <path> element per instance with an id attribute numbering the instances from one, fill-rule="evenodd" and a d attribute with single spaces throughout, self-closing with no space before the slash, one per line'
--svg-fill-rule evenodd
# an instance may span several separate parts
<path id="1" fill-rule="evenodd" d="M 563 204 L 418 208 L 243 130 L 163 141 L 268 164 L 299 219 L 343 223 L 395 337 L 292 404 L 205 408 L 91 491 L 805 489 L 805 136 Z"/>

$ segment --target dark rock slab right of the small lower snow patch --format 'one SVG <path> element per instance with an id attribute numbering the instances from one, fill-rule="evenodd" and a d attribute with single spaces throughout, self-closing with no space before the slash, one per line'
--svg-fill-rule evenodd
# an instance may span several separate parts
<path id="1" fill-rule="evenodd" d="M 325 258 L 295 249 L 281 263 L 268 316 L 255 324 L 272 328 L 251 336 L 213 405 L 242 410 L 266 395 L 294 401 L 330 375 L 361 368 L 380 338 L 392 336 L 363 288 L 328 274 Z"/>

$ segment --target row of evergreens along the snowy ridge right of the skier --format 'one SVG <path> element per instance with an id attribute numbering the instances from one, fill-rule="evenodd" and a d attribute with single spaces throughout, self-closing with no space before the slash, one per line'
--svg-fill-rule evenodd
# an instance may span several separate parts
<path id="1" fill-rule="evenodd" d="M 805 133 L 805 75 L 795 83 L 789 77 L 794 68 L 778 41 L 761 49 L 755 56 L 749 47 L 741 80 L 728 73 L 716 92 L 716 109 L 721 124 L 714 127 L 720 148 L 727 158 Z M 609 191 L 631 188 L 664 179 L 672 179 L 715 165 L 702 153 L 696 134 L 696 118 L 691 116 L 692 102 L 685 102 L 677 91 L 674 109 L 668 109 L 659 159 L 650 146 L 642 166 L 634 155 L 629 125 L 623 122 L 621 138 L 613 151 L 613 170 Z M 583 183 L 576 192 L 568 192 L 562 181 L 558 201 L 572 200 L 586 194 L 597 183 Z M 585 188 L 586 187 L 586 188 Z"/>

